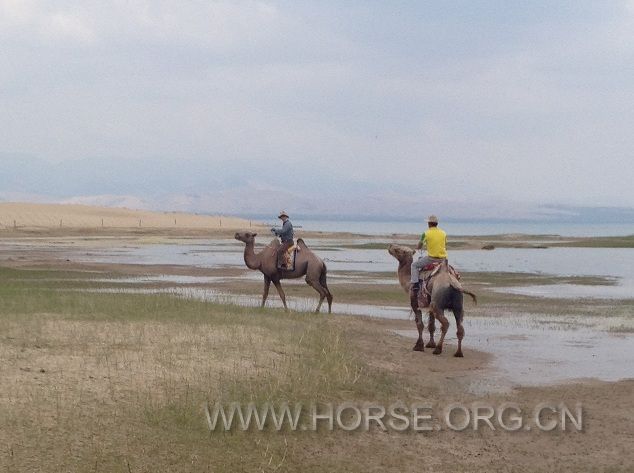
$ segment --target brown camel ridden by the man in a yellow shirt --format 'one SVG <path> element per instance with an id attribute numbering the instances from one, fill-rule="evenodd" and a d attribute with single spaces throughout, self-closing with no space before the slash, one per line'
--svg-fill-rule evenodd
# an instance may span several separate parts
<path id="1" fill-rule="evenodd" d="M 410 295 L 410 305 L 415 314 L 416 328 L 418 329 L 418 340 L 414 345 L 414 351 L 424 351 L 423 342 L 423 314 L 418 306 L 418 299 L 411 297 L 410 294 L 410 274 L 411 265 L 415 251 L 411 248 L 399 245 L 390 245 L 388 252 L 398 260 L 398 280 L 403 290 Z M 427 328 L 429 330 L 429 342 L 427 348 L 434 348 L 434 355 L 442 353 L 445 335 L 449 329 L 449 321 L 445 317 L 445 310 L 449 309 L 453 312 L 456 319 L 456 334 L 458 336 L 458 349 L 454 356 L 463 357 L 462 339 L 464 338 L 464 327 L 462 320 L 464 318 L 463 310 L 463 294 L 468 294 L 477 303 L 476 295 L 462 288 L 460 283 L 450 274 L 449 263 L 445 260 L 439 271 L 434 275 L 431 284 L 431 304 L 429 305 L 429 320 Z M 441 335 L 438 344 L 434 342 L 434 332 L 436 331 L 435 321 L 438 320 L 441 325 Z"/>

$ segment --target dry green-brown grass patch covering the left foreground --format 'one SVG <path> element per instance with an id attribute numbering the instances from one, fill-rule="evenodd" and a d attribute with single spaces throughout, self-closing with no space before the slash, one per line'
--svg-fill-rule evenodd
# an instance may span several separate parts
<path id="1" fill-rule="evenodd" d="M 203 406 L 397 392 L 331 318 L 87 292 L 77 278 L 0 269 L 3 470 L 323 471 L 306 457 L 317 433 L 210 434 Z"/>

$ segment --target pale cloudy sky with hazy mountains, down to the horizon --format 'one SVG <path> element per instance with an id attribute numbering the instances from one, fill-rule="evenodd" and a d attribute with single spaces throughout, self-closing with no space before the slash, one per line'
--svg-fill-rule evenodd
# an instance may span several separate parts
<path id="1" fill-rule="evenodd" d="M 634 0 L 0 0 L 0 130 L 4 200 L 633 208 Z"/>

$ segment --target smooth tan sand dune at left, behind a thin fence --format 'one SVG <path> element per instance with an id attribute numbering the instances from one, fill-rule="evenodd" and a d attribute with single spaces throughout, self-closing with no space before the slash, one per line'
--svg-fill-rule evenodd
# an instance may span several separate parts
<path id="1" fill-rule="evenodd" d="M 222 228 L 259 226 L 236 217 L 70 204 L 0 202 L 2 228 Z"/>

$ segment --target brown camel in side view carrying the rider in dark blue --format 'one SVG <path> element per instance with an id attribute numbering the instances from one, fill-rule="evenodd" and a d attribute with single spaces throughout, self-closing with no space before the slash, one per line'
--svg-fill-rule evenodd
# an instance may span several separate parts
<path id="1" fill-rule="evenodd" d="M 302 276 L 306 276 L 306 283 L 313 287 L 319 293 L 319 303 L 315 313 L 319 313 L 321 305 L 324 299 L 328 300 L 328 313 L 332 312 L 332 294 L 328 289 L 326 282 L 326 264 L 315 253 L 308 249 L 306 243 L 301 238 L 297 239 L 297 247 L 299 251 L 295 258 L 295 269 L 293 271 L 280 270 L 277 268 L 276 250 L 280 245 L 277 238 L 273 239 L 268 246 L 266 246 L 261 252 L 255 252 L 255 237 L 257 233 L 251 232 L 238 232 L 235 234 L 235 239 L 243 242 L 244 247 L 244 262 L 249 269 L 257 269 L 264 275 L 264 292 L 262 293 L 262 305 L 266 304 L 266 299 L 269 295 L 269 287 L 271 282 L 275 285 L 284 309 L 288 310 L 286 306 L 286 295 L 280 284 L 280 279 L 297 279 Z"/>

